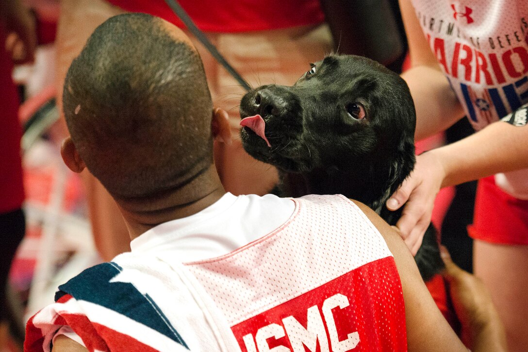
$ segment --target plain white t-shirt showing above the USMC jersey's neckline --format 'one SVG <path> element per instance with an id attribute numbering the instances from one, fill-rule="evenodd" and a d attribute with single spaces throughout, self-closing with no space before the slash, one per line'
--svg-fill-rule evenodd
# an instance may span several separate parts
<path id="1" fill-rule="evenodd" d="M 158 225 L 130 242 L 133 253 L 156 248 L 178 253 L 182 263 L 214 258 L 234 251 L 284 224 L 295 202 L 272 194 L 235 197 L 226 193 L 213 205 L 186 218 Z M 254 223 L 247 219 L 266 219 Z M 219 226 L 219 224 L 221 224 Z"/>

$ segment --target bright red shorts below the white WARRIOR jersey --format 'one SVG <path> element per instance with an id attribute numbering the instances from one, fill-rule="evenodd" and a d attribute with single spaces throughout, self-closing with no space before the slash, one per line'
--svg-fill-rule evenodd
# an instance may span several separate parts
<path id="1" fill-rule="evenodd" d="M 493 176 L 478 182 L 469 236 L 486 242 L 528 245 L 528 200 L 517 199 L 496 186 Z"/>

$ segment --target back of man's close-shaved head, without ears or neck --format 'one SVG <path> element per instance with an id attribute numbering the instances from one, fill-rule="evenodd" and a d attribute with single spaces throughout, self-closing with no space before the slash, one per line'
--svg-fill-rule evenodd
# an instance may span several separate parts
<path id="1" fill-rule="evenodd" d="M 156 197 L 212 164 L 211 95 L 188 38 L 150 15 L 111 17 L 64 84 L 64 115 L 87 168 L 117 198 Z"/>

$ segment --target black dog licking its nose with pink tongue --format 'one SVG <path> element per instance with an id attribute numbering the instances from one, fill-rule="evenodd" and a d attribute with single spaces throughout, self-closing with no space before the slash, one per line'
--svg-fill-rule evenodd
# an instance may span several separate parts
<path id="1" fill-rule="evenodd" d="M 329 55 L 293 87 L 251 90 L 240 104 L 244 149 L 275 165 L 281 195 L 340 193 L 394 225 L 384 206 L 414 167 L 416 113 L 406 82 L 381 64 Z M 430 226 L 416 257 L 424 280 L 442 267 Z"/>

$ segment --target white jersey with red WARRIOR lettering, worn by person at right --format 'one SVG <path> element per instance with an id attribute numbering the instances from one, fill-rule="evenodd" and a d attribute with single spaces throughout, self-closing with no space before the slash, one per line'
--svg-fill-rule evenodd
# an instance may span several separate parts
<path id="1" fill-rule="evenodd" d="M 528 102 L 527 1 L 412 3 L 432 52 L 477 131 Z M 524 126 L 525 110 L 515 118 L 514 124 Z M 498 174 L 495 182 L 512 196 L 528 199 L 528 170 Z"/>

